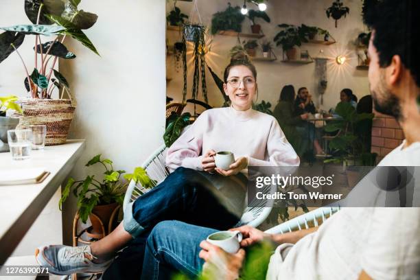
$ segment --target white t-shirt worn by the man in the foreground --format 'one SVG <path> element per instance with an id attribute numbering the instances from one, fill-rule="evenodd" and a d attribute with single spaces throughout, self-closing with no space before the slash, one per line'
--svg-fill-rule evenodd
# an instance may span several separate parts
<path id="1" fill-rule="evenodd" d="M 380 165 L 420 166 L 420 143 L 404 143 Z M 277 247 L 266 279 L 358 279 L 362 270 L 373 279 L 420 279 L 420 208 L 342 209 L 295 245 Z"/>

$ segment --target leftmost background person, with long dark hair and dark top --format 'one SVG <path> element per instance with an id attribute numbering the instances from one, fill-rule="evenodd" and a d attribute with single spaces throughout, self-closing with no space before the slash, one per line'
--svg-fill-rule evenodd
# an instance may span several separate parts
<path id="1" fill-rule="evenodd" d="M 314 124 L 305 121 L 309 114 L 302 113 L 301 115 L 296 115 L 296 112 L 294 112 L 294 108 L 296 108 L 293 104 L 294 95 L 294 87 L 291 84 L 283 86 L 279 103 L 273 112 L 273 116 L 279 121 L 285 137 L 290 141 L 294 150 L 299 155 L 306 152 L 305 139 L 308 139 L 308 137 L 310 143 L 314 145 L 316 154 L 325 154 L 323 148 L 319 145 L 318 139 L 315 137 Z"/>

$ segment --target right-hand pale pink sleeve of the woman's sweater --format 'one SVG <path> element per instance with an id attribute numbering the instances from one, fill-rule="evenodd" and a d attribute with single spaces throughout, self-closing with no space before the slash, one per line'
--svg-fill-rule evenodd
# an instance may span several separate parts
<path id="1" fill-rule="evenodd" d="M 285 138 L 276 119 L 272 120 L 267 140 L 268 161 L 249 157 L 249 166 L 299 166 L 299 156 Z"/>

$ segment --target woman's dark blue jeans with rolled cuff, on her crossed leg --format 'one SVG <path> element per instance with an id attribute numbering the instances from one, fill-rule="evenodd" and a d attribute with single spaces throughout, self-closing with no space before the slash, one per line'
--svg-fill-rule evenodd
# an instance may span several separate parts
<path id="1" fill-rule="evenodd" d="M 246 185 L 243 174 L 235 177 Z M 229 229 L 240 220 L 244 198 L 245 189 L 237 180 L 179 167 L 161 184 L 128 205 L 124 229 L 137 237 L 164 220 Z"/>

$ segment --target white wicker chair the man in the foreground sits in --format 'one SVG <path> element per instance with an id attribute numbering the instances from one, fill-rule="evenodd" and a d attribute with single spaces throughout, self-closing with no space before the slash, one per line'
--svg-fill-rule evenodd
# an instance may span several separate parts
<path id="1" fill-rule="evenodd" d="M 309 229 L 313 226 L 319 226 L 327 218 L 334 215 L 340 210 L 340 207 L 320 207 L 313 211 L 307 212 L 299 217 L 293 218 L 274 226 L 271 229 L 268 229 L 266 233 L 270 234 L 280 234 L 280 233 L 290 233 L 292 231 L 298 231 L 301 229 Z"/>

